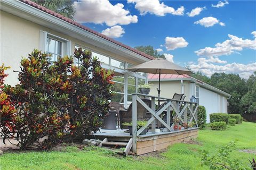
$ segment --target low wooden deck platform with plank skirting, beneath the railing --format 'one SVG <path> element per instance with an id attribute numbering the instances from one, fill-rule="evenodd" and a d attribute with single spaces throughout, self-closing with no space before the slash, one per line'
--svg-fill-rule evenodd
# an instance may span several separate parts
<path id="1" fill-rule="evenodd" d="M 111 144 L 111 141 L 115 141 L 118 145 L 120 142 L 129 142 L 132 139 L 130 133 L 125 132 L 126 130 L 100 130 L 93 133 L 93 138 L 104 140 L 107 138 L 107 143 Z M 151 131 L 147 134 L 139 135 L 137 137 L 137 145 L 135 154 L 142 155 L 149 152 L 165 149 L 174 143 L 180 143 L 182 141 L 189 141 L 191 138 L 196 138 L 198 135 L 198 128 L 190 128 L 180 131 L 160 132 L 152 133 Z M 119 145 L 122 147 L 122 145 Z"/>

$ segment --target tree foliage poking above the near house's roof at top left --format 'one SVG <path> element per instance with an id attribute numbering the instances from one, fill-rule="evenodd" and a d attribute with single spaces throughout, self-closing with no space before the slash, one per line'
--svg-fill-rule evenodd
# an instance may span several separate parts
<path id="1" fill-rule="evenodd" d="M 76 10 L 73 1 L 70 0 L 32 0 L 38 5 L 44 6 L 49 10 L 57 12 L 67 18 L 74 19 Z"/>

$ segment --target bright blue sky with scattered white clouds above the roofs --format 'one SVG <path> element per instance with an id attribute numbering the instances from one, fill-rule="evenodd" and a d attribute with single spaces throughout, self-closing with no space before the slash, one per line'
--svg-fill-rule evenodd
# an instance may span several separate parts
<path id="1" fill-rule="evenodd" d="M 256 1 L 87 0 L 75 6 L 76 20 L 83 25 L 131 47 L 159 48 L 193 71 L 244 78 L 256 71 Z M 201 10 L 189 17 L 195 8 Z"/>

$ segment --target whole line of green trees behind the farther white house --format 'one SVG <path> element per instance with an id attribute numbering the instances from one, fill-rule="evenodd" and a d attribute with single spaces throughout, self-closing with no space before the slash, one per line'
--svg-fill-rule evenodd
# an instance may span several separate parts
<path id="1" fill-rule="evenodd" d="M 256 71 L 247 80 L 226 73 L 214 73 L 209 78 L 197 72 L 193 77 L 231 95 L 228 113 L 256 114 Z"/>

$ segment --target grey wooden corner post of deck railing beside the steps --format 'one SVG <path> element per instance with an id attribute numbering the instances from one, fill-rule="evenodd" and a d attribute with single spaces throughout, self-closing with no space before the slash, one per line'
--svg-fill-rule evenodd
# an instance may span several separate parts
<path id="1" fill-rule="evenodd" d="M 132 95 L 132 152 L 137 152 L 137 95 Z"/>

